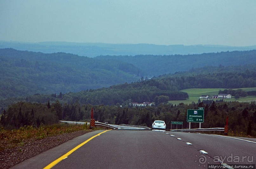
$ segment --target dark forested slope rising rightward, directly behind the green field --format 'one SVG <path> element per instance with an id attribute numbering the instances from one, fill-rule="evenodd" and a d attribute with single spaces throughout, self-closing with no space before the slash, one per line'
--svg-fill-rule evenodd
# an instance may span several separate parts
<path id="1" fill-rule="evenodd" d="M 33 94 L 25 97 L 12 97 L 0 100 L 3 109 L 17 101 L 47 103 L 59 100 L 61 104 L 74 103 L 92 105 L 122 105 L 127 106 L 130 102 L 157 102 L 160 98 L 170 100 L 186 100 L 189 96 L 181 92 L 187 88 L 249 88 L 256 86 L 256 66 L 228 66 L 228 67 L 205 67 L 179 72 L 176 74 L 162 75 L 149 80 L 113 85 L 109 88 L 90 89 L 80 92 Z M 222 93 L 238 94 L 244 97 L 246 94 L 255 95 L 253 91 L 223 91 Z"/>

